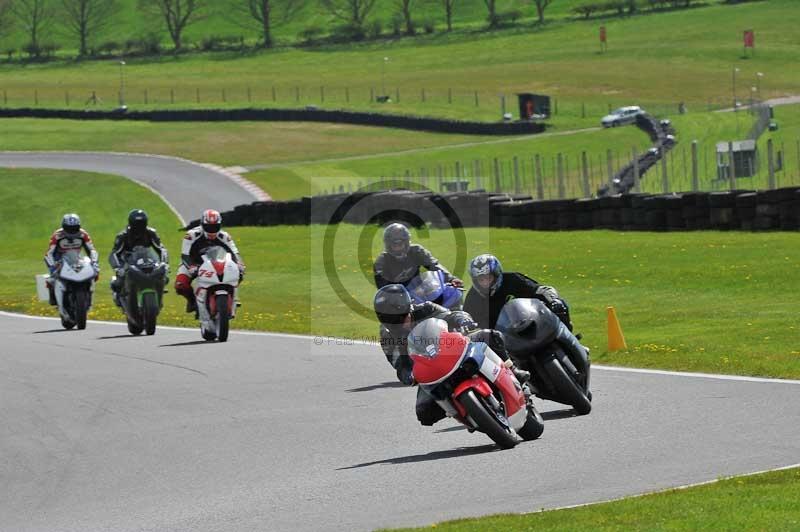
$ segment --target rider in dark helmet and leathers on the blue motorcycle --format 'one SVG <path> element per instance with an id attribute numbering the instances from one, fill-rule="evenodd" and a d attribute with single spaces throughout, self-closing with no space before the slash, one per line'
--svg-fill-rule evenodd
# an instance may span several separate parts
<path id="1" fill-rule="evenodd" d="M 440 270 L 446 283 L 461 288 L 464 283 L 442 266 L 431 252 L 419 244 L 411 243 L 411 233 L 401 223 L 392 223 L 383 231 L 384 251 L 375 259 L 375 286 L 407 284 L 419 274 L 420 266 L 430 271 Z"/>

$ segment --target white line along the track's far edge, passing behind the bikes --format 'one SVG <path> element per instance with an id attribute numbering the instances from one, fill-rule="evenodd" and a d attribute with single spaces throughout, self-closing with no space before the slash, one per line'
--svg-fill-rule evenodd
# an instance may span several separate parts
<path id="1" fill-rule="evenodd" d="M 0 310 L 0 316 L 6 316 L 9 318 L 21 318 L 21 319 L 30 319 L 30 320 L 59 320 L 59 318 L 55 318 L 52 316 L 31 316 L 29 314 L 20 314 L 18 312 L 8 312 L 5 310 Z M 102 320 L 88 320 L 88 323 L 96 323 L 100 325 L 116 325 L 116 326 L 123 326 L 125 322 L 121 321 L 102 321 Z M 168 331 L 196 331 L 195 327 L 176 327 L 173 325 L 159 325 L 159 329 L 165 329 Z M 232 329 L 235 331 L 237 335 L 245 335 L 245 336 L 271 336 L 275 338 L 291 338 L 297 340 L 317 340 L 322 339 L 322 343 L 337 343 L 338 345 L 377 345 L 377 342 L 374 341 L 366 341 L 366 340 L 351 340 L 348 338 L 339 338 L 336 336 L 330 335 L 308 335 L 308 334 L 291 334 L 291 333 L 280 333 L 280 332 L 268 332 L 268 331 L 247 331 L 247 330 L 239 330 L 239 329 Z M 322 345 L 322 344 L 317 344 Z M 714 380 L 723 380 L 723 381 L 739 381 L 739 382 L 757 382 L 757 383 L 772 383 L 772 384 L 800 384 L 800 380 L 793 380 L 793 379 L 775 379 L 769 377 L 747 377 L 742 375 L 720 375 L 715 373 L 690 373 L 690 372 L 681 372 L 681 371 L 669 371 L 669 370 L 660 370 L 660 369 L 645 369 L 645 368 L 625 368 L 621 366 L 602 366 L 602 365 L 592 365 L 592 369 L 599 369 L 601 371 L 616 371 L 619 373 L 641 373 L 645 375 L 664 375 L 669 377 L 689 377 L 689 378 L 700 378 L 700 379 L 714 379 Z"/>

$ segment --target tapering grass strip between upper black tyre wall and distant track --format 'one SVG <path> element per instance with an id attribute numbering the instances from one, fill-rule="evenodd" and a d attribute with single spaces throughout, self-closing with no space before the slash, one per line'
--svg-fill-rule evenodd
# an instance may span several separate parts
<path id="1" fill-rule="evenodd" d="M 2 150 L 125 151 L 222 166 L 289 163 L 481 142 L 488 137 L 295 122 L 2 119 Z"/>

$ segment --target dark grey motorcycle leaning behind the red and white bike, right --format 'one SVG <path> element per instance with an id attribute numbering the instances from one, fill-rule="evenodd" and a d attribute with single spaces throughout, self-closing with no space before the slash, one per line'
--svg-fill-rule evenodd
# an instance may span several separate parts
<path id="1" fill-rule="evenodd" d="M 547 305 L 538 299 L 512 299 L 503 306 L 495 329 L 506 349 L 531 372 L 534 394 L 571 405 L 580 415 L 592 410 L 589 353 Z"/>

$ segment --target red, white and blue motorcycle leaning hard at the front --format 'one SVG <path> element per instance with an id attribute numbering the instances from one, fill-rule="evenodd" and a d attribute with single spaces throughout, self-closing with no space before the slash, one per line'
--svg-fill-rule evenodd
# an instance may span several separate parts
<path id="1" fill-rule="evenodd" d="M 486 343 L 430 318 L 412 329 L 408 351 L 420 388 L 470 432 L 483 432 L 504 449 L 541 436 L 544 422 L 530 391 Z"/>

